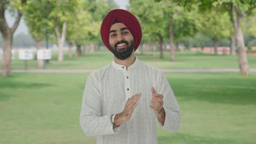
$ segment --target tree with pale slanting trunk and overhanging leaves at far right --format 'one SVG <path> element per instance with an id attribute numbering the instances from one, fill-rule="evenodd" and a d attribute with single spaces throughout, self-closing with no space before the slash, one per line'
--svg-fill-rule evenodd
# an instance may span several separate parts
<path id="1" fill-rule="evenodd" d="M 161 0 L 158 0 L 161 1 Z M 214 7 L 215 9 L 221 9 L 223 11 L 228 11 L 230 15 L 230 21 L 234 28 L 235 40 L 236 40 L 236 51 L 238 57 L 238 65 L 240 69 L 240 74 L 249 75 L 249 65 L 247 61 L 247 55 L 245 50 L 245 41 L 243 39 L 242 33 L 242 20 L 243 17 L 253 14 L 253 10 L 256 8 L 255 0 L 193 0 L 193 1 L 175 1 L 186 8 L 190 8 L 189 5 L 196 3 L 199 5 L 200 9 L 207 9 Z"/>

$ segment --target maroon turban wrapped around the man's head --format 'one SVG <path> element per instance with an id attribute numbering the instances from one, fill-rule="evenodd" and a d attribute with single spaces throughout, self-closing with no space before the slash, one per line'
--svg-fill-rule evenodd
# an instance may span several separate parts
<path id="1" fill-rule="evenodd" d="M 109 11 L 109 13 L 105 16 L 104 20 L 102 21 L 101 39 L 103 43 L 106 45 L 108 50 L 111 51 L 109 47 L 109 32 L 115 20 L 124 23 L 124 25 L 129 29 L 135 42 L 134 51 L 136 51 L 139 44 L 141 43 L 141 25 L 139 24 L 139 21 L 132 13 L 123 9 L 114 9 Z"/>

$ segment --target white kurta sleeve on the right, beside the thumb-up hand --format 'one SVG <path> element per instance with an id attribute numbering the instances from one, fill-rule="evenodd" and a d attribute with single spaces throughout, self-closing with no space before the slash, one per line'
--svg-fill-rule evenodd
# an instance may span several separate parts
<path id="1" fill-rule="evenodd" d="M 165 110 L 165 123 L 162 125 L 161 122 L 158 121 L 158 124 L 161 128 L 174 133 L 179 129 L 179 124 L 181 123 L 179 105 L 165 75 L 159 72 L 156 81 L 156 93 L 164 95 L 163 107 Z"/>

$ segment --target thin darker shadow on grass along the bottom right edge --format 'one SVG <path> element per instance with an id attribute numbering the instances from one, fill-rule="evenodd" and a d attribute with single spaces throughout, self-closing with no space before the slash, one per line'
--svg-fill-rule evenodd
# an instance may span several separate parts
<path id="1" fill-rule="evenodd" d="M 168 143 L 181 143 L 181 144 L 193 144 L 193 143 L 222 143 L 222 144 L 240 144 L 240 143 L 248 143 L 244 141 L 237 141 L 237 140 L 231 140 L 231 139 L 216 139 L 213 137 L 201 137 L 201 136 L 193 136 L 193 135 L 187 135 L 182 133 L 176 133 L 174 135 L 170 136 L 158 136 L 158 143 L 159 144 L 168 144 Z"/>

